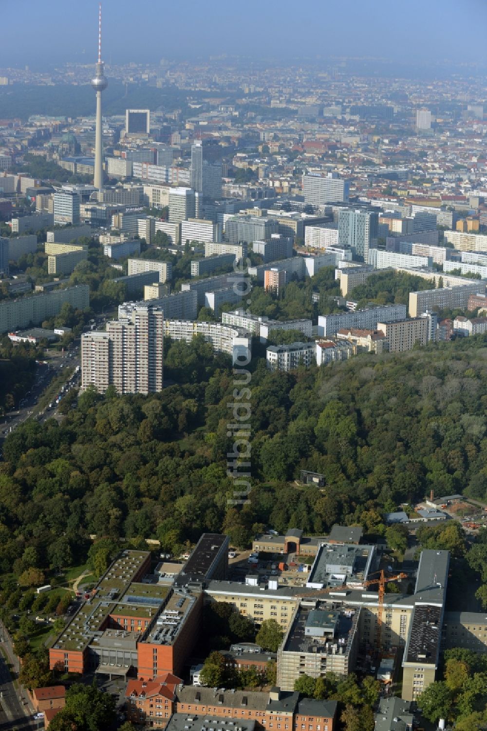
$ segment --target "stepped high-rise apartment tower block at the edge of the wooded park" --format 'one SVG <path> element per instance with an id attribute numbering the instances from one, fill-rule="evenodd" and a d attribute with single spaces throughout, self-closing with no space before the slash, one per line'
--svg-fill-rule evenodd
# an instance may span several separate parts
<path id="1" fill-rule="evenodd" d="M 156 393 L 163 383 L 164 314 L 141 305 L 130 319 L 107 322 L 107 331 L 81 337 L 81 386 L 101 392 Z"/>

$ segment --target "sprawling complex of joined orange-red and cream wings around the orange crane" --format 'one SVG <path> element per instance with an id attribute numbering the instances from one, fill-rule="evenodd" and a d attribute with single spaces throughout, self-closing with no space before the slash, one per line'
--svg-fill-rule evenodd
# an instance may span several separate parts
<path id="1" fill-rule="evenodd" d="M 256 538 L 254 550 L 261 553 L 315 556 L 305 586 L 258 575 L 245 583 L 228 580 L 229 540 L 219 534 L 203 534 L 174 577 L 151 573 L 148 551 L 125 550 L 56 637 L 50 667 L 123 677 L 133 667 L 144 683 L 180 675 L 196 645 L 203 604 L 229 602 L 256 626 L 272 618 L 285 632 L 277 653 L 283 692 L 303 673 L 345 675 L 361 667 L 365 654 L 398 648 L 402 697 L 415 700 L 436 675 L 449 553 L 423 550 L 413 594 L 379 594 L 371 588 L 375 547 L 360 540 L 359 532 L 341 526 L 329 537 L 292 530 Z M 483 615 L 448 615 L 445 626 L 447 646 L 454 637 L 468 647 L 475 636 L 475 648 L 487 651 L 485 629 L 470 631 L 486 626 Z"/>

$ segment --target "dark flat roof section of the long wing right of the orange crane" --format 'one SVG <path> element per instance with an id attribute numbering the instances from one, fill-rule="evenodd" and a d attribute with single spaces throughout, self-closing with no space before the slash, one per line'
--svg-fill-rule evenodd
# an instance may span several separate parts
<path id="1" fill-rule="evenodd" d="M 413 614 L 404 662 L 436 667 L 440 651 L 442 607 L 416 605 Z"/>

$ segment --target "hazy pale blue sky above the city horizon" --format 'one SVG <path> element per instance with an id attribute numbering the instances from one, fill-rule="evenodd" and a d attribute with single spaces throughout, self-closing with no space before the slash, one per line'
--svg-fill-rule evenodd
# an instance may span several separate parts
<path id="1" fill-rule="evenodd" d="M 96 60 L 94 0 L 0 0 L 0 67 Z M 486 0 L 104 0 L 104 61 L 219 53 L 485 64 Z"/>

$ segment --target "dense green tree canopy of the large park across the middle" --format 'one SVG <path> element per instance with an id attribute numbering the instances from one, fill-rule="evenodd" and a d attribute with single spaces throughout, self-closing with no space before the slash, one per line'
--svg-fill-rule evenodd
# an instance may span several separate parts
<path id="1" fill-rule="evenodd" d="M 88 390 L 63 422 L 28 421 L 7 437 L 1 570 L 12 570 L 28 547 L 38 567 L 54 567 L 60 556 L 84 560 L 89 534 L 158 537 L 174 552 L 202 531 L 223 530 L 245 547 L 262 524 L 323 534 L 336 522 L 361 523 L 373 533 L 384 510 L 431 488 L 485 499 L 487 482 L 478 479 L 487 474 L 485 342 L 478 336 L 288 374 L 256 359 L 253 487 L 250 502 L 234 507 L 226 474 L 235 389 L 229 358 L 214 358 L 201 338 L 168 340 L 165 377 L 175 385 L 162 393 Z M 324 474 L 326 489 L 288 482 L 300 469 Z M 456 523 L 420 529 L 418 539 L 464 552 Z M 475 558 L 481 550 L 471 553 L 475 570 L 485 564 L 483 553 Z M 97 560 L 101 571 L 107 556 Z M 34 566 L 23 561 L 21 570 Z"/>

